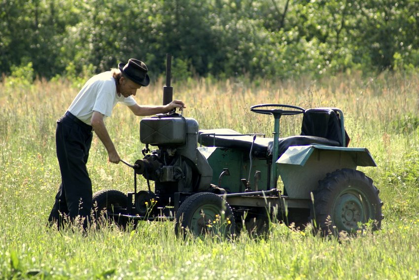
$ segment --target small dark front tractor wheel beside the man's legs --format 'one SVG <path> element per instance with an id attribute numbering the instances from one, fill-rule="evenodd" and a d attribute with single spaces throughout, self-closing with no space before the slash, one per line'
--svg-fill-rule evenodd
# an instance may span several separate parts
<path id="1" fill-rule="evenodd" d="M 119 214 L 121 209 L 127 208 L 127 196 L 116 189 L 105 189 L 95 192 L 93 195 L 93 210 L 97 221 L 116 221 L 123 225 L 124 221 L 114 218 L 113 214 Z"/>

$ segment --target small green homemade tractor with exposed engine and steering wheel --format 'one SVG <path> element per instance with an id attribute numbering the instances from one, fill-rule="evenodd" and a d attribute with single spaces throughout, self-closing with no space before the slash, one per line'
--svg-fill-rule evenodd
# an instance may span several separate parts
<path id="1" fill-rule="evenodd" d="M 167 79 L 165 104 L 171 95 Z M 200 130 L 195 119 L 175 112 L 142 119 L 144 157 L 124 162 L 134 169 L 134 191 L 98 191 L 96 209 L 120 224 L 175 220 L 177 235 L 231 236 L 243 227 L 261 234 L 272 220 L 311 222 L 325 235 L 354 233 L 365 223 L 381 227 L 379 190 L 356 170 L 376 163 L 366 148 L 348 147 L 341 110 L 259 104 L 250 111 L 274 118 L 273 138 Z M 301 134 L 279 138 L 281 117 L 297 114 L 303 115 Z M 137 175 L 147 189 L 137 188 Z"/>

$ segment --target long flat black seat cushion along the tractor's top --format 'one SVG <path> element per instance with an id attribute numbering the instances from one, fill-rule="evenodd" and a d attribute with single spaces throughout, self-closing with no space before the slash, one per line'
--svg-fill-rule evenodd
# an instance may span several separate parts
<path id="1" fill-rule="evenodd" d="M 198 134 L 198 143 L 207 147 L 236 148 L 250 152 L 253 143 L 252 135 L 241 134 L 228 128 L 201 129 Z M 279 138 L 279 156 L 285 153 L 290 146 L 305 146 L 313 144 L 340 146 L 338 141 L 323 137 L 305 135 L 290 136 L 286 138 Z M 273 148 L 273 138 L 256 137 L 253 144 L 252 155 L 255 157 L 272 157 Z"/>

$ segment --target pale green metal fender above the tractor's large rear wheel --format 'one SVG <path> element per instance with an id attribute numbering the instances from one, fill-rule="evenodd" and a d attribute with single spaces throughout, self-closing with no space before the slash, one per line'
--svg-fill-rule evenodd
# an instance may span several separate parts
<path id="1" fill-rule="evenodd" d="M 376 166 L 366 148 L 294 146 L 277 160 L 284 194 L 292 199 L 311 199 L 327 173 L 357 166 Z"/>

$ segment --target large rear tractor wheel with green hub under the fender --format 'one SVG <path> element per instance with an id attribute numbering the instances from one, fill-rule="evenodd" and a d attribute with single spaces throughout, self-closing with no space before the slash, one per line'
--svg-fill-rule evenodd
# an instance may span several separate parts
<path id="1" fill-rule="evenodd" d="M 341 169 L 328 174 L 313 192 L 314 229 L 322 235 L 355 233 L 369 221 L 373 230 L 380 229 L 383 202 L 379 192 L 360 171 Z"/>

